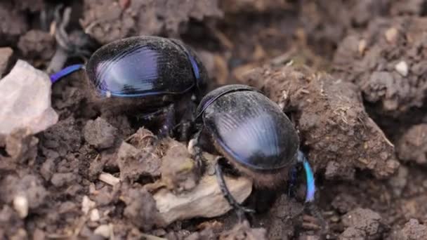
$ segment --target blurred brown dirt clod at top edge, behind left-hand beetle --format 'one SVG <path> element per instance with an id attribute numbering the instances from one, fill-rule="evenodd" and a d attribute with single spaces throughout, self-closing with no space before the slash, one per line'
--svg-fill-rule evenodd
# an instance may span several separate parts
<path id="1" fill-rule="evenodd" d="M 117 1 L 84 1 L 82 25 L 101 44 L 136 35 L 178 36 L 190 18 L 220 17 L 217 1 L 131 1 L 121 8 Z"/>

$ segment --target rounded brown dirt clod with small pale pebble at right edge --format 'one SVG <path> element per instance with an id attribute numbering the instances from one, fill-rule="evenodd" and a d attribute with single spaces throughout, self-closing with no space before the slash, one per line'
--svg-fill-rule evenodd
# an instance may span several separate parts
<path id="1" fill-rule="evenodd" d="M 357 84 L 382 114 L 399 117 L 411 107 L 421 107 L 427 92 L 426 22 L 405 17 L 370 22 L 365 32 L 351 34 L 339 44 L 335 76 Z M 362 40 L 367 41 L 367 50 L 360 54 L 355 48 Z"/>

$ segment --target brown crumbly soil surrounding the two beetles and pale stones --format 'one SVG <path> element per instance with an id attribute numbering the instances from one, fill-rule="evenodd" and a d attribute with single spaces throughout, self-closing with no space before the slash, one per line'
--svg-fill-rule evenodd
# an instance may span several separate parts
<path id="1" fill-rule="evenodd" d="M 61 3 L 70 1 L 0 3 L 0 76 L 18 58 L 50 65 Z M 101 109 L 79 72 L 52 87 L 57 124 L 0 135 L 0 239 L 427 238 L 426 1 L 81 0 L 70 8 L 67 31 L 83 29 L 98 44 L 181 39 L 204 62 L 210 88 L 248 84 L 277 102 L 313 164 L 327 229 L 305 211 L 302 173 L 294 197 L 286 185 L 254 189 L 245 204 L 259 211 L 248 221 L 229 211 L 166 224 L 156 191 L 191 192 L 202 178 L 188 142 L 157 141 L 158 129 Z"/>

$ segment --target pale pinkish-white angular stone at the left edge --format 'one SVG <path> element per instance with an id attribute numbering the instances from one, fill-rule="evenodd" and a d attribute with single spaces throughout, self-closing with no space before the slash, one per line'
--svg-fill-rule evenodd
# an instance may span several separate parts
<path id="1" fill-rule="evenodd" d="M 0 134 L 18 128 L 39 133 L 58 121 L 51 108 L 49 76 L 23 60 L 0 80 L 0 106 Z"/>

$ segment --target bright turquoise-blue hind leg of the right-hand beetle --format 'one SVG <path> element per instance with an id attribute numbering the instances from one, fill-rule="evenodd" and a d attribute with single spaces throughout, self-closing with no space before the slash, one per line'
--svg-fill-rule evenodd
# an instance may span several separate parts
<path id="1" fill-rule="evenodd" d="M 325 232 L 327 229 L 327 222 L 324 220 L 322 214 L 320 213 L 317 206 L 314 204 L 315 200 L 315 178 L 313 174 L 313 170 L 308 163 L 306 155 L 298 149 L 298 163 L 303 165 L 304 171 L 306 173 L 306 184 L 307 184 L 307 193 L 306 193 L 306 206 L 308 206 L 308 210 L 312 213 L 318 220 L 320 220 L 320 224 L 322 225 L 322 232 Z"/>

